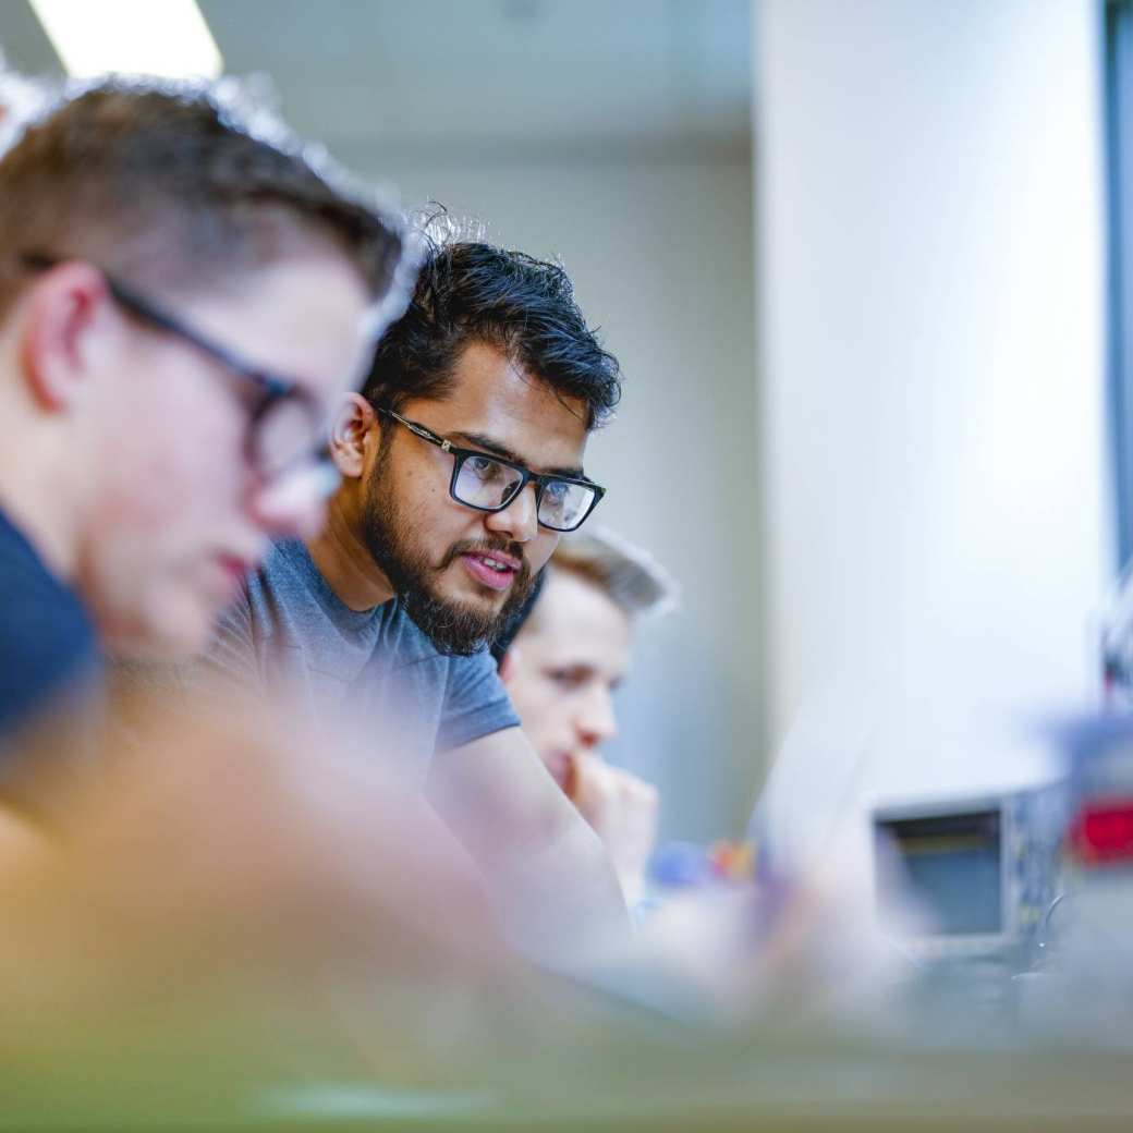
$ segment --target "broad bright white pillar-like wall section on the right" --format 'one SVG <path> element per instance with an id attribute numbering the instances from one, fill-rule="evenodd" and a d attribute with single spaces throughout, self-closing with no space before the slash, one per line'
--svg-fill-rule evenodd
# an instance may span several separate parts
<path id="1" fill-rule="evenodd" d="M 974 782 L 986 753 L 945 731 L 1089 696 L 1098 7 L 759 8 L 769 710 L 776 741 L 808 721 L 796 793 L 844 806 L 851 764 L 861 792 Z"/>

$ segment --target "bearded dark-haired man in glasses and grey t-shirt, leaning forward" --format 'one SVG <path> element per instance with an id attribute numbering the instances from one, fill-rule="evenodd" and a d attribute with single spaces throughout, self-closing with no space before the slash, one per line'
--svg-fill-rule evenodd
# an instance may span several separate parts
<path id="1" fill-rule="evenodd" d="M 208 665 L 343 714 L 397 757 L 540 957 L 623 921 L 600 843 L 519 729 L 488 653 L 603 488 L 582 467 L 617 363 L 565 273 L 427 242 L 406 315 L 335 418 L 323 533 L 276 543 Z"/>

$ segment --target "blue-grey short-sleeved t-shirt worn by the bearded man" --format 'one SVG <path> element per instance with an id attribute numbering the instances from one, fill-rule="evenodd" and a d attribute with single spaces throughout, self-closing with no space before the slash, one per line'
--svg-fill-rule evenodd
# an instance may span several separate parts
<path id="1" fill-rule="evenodd" d="M 519 726 L 486 650 L 438 653 L 395 598 L 350 610 L 297 540 L 276 543 L 249 576 L 207 661 L 255 689 L 284 690 L 314 721 L 365 712 L 375 734 L 395 730 L 421 778 L 435 752 Z"/>

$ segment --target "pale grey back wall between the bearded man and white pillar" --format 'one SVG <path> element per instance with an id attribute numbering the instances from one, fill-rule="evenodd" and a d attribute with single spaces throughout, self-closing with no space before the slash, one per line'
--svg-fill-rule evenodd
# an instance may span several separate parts
<path id="1" fill-rule="evenodd" d="M 600 521 L 648 547 L 683 604 L 641 629 L 610 753 L 658 783 L 667 835 L 738 832 L 764 768 L 750 155 L 381 156 L 407 202 L 561 255 L 617 355 L 625 395 L 587 471 L 610 489 Z"/>

